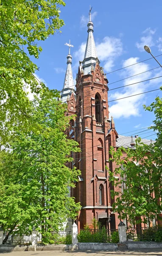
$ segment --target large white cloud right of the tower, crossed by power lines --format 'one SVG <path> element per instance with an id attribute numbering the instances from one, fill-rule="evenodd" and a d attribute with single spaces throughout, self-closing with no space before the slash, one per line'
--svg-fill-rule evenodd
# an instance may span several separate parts
<path id="1" fill-rule="evenodd" d="M 123 67 L 129 66 L 139 61 L 139 58 L 128 58 L 126 61 L 123 62 Z M 122 72 L 123 77 L 134 76 L 136 74 L 145 72 L 148 70 L 148 64 L 139 63 L 137 65 L 128 67 L 125 71 Z M 143 93 L 146 91 L 148 87 L 148 83 L 139 83 L 133 84 L 138 81 L 142 81 L 145 79 L 149 79 L 151 76 L 151 72 L 143 73 L 139 76 L 134 76 L 130 79 L 126 79 L 123 82 L 123 85 L 132 84 L 128 87 L 123 87 L 121 90 L 118 90 L 115 93 L 109 94 L 109 101 L 113 99 L 120 99 L 127 96 L 131 96 L 138 93 Z M 145 103 L 145 94 L 129 97 L 126 99 L 120 99 L 115 103 L 110 102 L 110 115 L 114 116 L 115 118 L 128 118 L 130 116 L 140 116 L 140 107 Z M 113 105 L 112 105 L 113 104 Z"/>

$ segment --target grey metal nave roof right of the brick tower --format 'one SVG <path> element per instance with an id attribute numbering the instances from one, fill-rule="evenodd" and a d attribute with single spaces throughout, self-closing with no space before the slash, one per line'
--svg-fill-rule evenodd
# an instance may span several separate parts
<path id="1" fill-rule="evenodd" d="M 136 138 L 133 138 L 133 140 L 134 140 L 134 144 L 135 144 Z M 117 146 L 117 148 L 120 148 L 122 146 L 124 148 L 132 148 L 131 141 L 132 141 L 132 137 L 118 135 L 116 146 Z M 141 141 L 142 141 L 142 143 L 144 143 L 146 145 L 150 145 L 153 142 L 152 140 L 146 140 L 146 139 L 141 139 Z"/>

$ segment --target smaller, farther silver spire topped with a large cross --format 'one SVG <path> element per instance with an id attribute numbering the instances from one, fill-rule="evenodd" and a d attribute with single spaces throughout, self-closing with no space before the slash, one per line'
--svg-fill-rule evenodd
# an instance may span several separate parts
<path id="1" fill-rule="evenodd" d="M 74 89 L 74 81 L 73 81 L 73 73 L 72 73 L 72 55 L 70 54 L 70 47 L 74 47 L 72 44 L 65 44 L 69 47 L 69 54 L 67 55 L 67 70 L 65 73 L 65 79 L 64 79 L 64 86 L 61 91 L 61 99 L 62 102 L 67 102 L 67 97 L 71 95 L 72 92 L 75 91 Z"/>

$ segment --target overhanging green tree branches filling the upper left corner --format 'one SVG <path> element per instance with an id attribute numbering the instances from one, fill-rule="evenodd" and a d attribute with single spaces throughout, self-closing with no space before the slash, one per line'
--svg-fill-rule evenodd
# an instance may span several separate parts
<path id="1" fill-rule="evenodd" d="M 36 65 L 29 55 L 39 57 L 44 41 L 61 26 L 62 0 L 0 0 L 0 144 L 5 145 L 17 125 L 29 127 L 31 105 L 24 86 L 39 93 L 34 76 Z M 46 89 L 47 90 L 47 89 Z"/>

